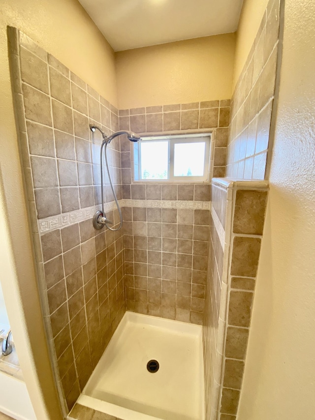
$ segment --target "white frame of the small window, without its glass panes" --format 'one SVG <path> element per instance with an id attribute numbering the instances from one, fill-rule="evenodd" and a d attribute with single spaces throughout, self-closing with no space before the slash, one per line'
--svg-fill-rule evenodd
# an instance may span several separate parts
<path id="1" fill-rule="evenodd" d="M 141 167 L 141 147 L 138 147 L 137 151 L 134 149 L 134 153 L 138 153 L 138 173 L 135 175 L 135 179 L 145 182 L 180 182 L 180 181 L 208 181 L 209 179 L 209 166 L 210 166 L 210 140 L 211 133 L 203 134 L 180 134 L 180 135 L 167 135 L 167 136 L 151 136 L 142 137 L 141 142 L 149 141 L 168 141 L 168 174 L 169 178 L 166 179 L 142 179 L 142 167 Z M 175 144 L 182 143 L 205 143 L 205 160 L 203 167 L 203 175 L 200 176 L 174 176 L 174 149 Z M 136 169 L 134 168 L 136 171 Z"/>

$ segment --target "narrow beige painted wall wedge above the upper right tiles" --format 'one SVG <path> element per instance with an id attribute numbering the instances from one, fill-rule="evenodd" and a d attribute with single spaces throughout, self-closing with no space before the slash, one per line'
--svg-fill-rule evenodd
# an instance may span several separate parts
<path id="1" fill-rule="evenodd" d="M 233 91 L 252 48 L 268 0 L 244 0 L 236 32 Z"/>

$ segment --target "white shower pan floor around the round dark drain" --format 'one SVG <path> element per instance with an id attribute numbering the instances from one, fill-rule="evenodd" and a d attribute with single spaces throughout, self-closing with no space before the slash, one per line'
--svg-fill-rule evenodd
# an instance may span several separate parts
<path id="1" fill-rule="evenodd" d="M 126 312 L 77 403 L 122 420 L 204 420 L 201 326 Z"/>

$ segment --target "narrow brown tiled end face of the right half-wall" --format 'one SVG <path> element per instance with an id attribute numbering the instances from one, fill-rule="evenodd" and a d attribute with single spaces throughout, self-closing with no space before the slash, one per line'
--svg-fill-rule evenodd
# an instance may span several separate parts
<path id="1" fill-rule="evenodd" d="M 241 183 L 236 183 L 233 189 L 231 258 L 228 267 L 227 319 L 221 377 L 221 417 L 237 414 L 267 196 L 268 188 L 259 187 L 258 184 L 252 188 L 242 188 Z"/>

